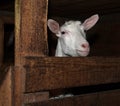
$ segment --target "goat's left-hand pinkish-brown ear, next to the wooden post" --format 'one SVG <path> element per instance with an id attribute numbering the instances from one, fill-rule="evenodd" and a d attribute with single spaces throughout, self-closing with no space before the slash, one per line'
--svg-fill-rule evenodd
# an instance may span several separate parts
<path id="1" fill-rule="evenodd" d="M 49 20 L 48 20 L 48 27 L 49 27 L 49 29 L 50 29 L 53 33 L 55 33 L 55 34 L 57 34 L 57 33 L 59 32 L 59 30 L 60 30 L 59 23 L 56 22 L 56 21 L 53 20 L 53 19 L 49 19 Z"/>

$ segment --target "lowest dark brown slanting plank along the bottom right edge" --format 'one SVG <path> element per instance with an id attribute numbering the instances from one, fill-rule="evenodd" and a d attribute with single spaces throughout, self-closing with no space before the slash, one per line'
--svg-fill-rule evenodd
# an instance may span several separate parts
<path id="1" fill-rule="evenodd" d="M 93 94 L 30 103 L 25 106 L 119 106 L 120 90 L 104 91 Z"/>

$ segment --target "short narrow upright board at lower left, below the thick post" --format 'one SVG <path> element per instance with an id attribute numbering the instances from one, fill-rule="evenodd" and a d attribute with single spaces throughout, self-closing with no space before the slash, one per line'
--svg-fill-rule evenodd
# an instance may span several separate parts
<path id="1" fill-rule="evenodd" d="M 25 71 L 22 67 L 14 67 L 13 73 L 14 80 L 14 92 L 13 92 L 13 105 L 22 106 L 23 105 L 23 93 L 25 87 Z"/>

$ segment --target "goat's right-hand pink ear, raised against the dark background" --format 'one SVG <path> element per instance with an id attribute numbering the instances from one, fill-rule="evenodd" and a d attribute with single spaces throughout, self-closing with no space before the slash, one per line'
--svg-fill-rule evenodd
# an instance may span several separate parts
<path id="1" fill-rule="evenodd" d="M 89 30 L 90 28 L 92 28 L 97 23 L 98 19 L 99 19 L 99 16 L 97 14 L 86 19 L 82 24 L 84 27 L 84 30 Z"/>

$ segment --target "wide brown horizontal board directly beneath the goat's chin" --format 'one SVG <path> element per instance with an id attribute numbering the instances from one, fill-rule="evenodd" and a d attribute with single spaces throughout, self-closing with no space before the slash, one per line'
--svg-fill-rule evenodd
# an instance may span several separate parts
<path id="1" fill-rule="evenodd" d="M 120 57 L 26 57 L 25 92 L 120 82 Z"/>

